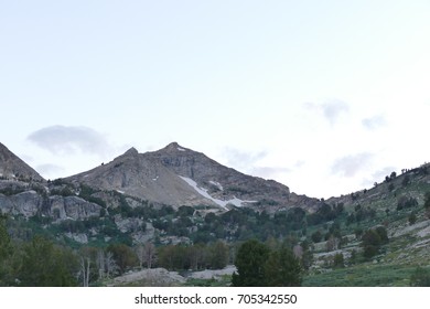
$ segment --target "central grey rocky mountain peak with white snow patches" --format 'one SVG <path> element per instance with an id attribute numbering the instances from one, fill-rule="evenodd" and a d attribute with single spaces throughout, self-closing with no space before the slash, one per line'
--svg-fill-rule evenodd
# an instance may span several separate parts
<path id="1" fill-rule="evenodd" d="M 172 142 L 139 153 L 131 148 L 114 161 L 65 179 L 100 190 L 116 190 L 159 204 L 289 207 L 316 204 L 315 199 L 290 193 L 288 187 L 224 167 Z"/>

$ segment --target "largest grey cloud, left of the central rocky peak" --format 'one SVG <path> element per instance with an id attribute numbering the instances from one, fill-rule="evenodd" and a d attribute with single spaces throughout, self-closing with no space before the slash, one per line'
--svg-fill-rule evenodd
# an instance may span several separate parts
<path id="1" fill-rule="evenodd" d="M 105 136 L 88 127 L 51 126 L 32 132 L 28 139 L 55 154 L 80 151 L 103 158 L 112 149 Z"/>

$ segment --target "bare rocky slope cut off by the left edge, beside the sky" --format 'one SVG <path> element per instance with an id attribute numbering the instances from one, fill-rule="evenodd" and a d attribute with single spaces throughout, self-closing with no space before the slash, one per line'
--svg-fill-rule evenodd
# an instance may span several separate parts
<path id="1" fill-rule="evenodd" d="M 17 157 L 0 142 L 0 177 L 8 179 L 26 179 L 44 181 L 44 179 L 23 160 Z"/>

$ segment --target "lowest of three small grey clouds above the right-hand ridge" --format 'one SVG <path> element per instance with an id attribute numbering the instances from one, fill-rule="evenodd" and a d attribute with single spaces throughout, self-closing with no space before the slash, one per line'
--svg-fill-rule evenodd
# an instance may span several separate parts
<path id="1" fill-rule="evenodd" d="M 362 152 L 338 158 L 332 164 L 332 172 L 346 178 L 355 177 L 370 164 L 374 157 L 374 153 Z"/>

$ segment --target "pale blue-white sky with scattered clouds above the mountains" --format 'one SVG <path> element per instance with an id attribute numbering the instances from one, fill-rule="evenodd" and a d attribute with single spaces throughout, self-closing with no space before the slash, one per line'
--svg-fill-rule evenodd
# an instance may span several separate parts
<path id="1" fill-rule="evenodd" d="M 430 160 L 430 1 L 0 0 L 0 141 L 44 178 L 171 141 L 314 198 Z"/>

